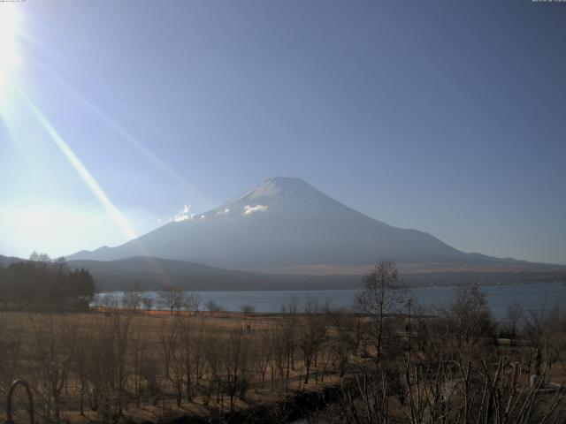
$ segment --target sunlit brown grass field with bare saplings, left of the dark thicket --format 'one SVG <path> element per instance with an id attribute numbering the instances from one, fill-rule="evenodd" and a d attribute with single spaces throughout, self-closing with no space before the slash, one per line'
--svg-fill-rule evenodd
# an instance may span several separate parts
<path id="1" fill-rule="evenodd" d="M 269 404 L 291 391 L 338 382 L 328 350 L 317 352 L 305 382 L 299 340 L 289 338 L 297 336 L 290 330 L 302 319 L 165 311 L 3 313 L 0 393 L 24 378 L 34 387 L 42 420 L 73 422 L 118 416 L 155 421 Z"/>

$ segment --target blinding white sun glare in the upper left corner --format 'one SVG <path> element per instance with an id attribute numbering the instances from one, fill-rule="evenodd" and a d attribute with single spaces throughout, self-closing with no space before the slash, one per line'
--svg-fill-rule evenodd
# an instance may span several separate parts
<path id="1" fill-rule="evenodd" d="M 0 3 L 0 99 L 19 64 L 17 35 L 20 19 L 17 4 Z"/>

